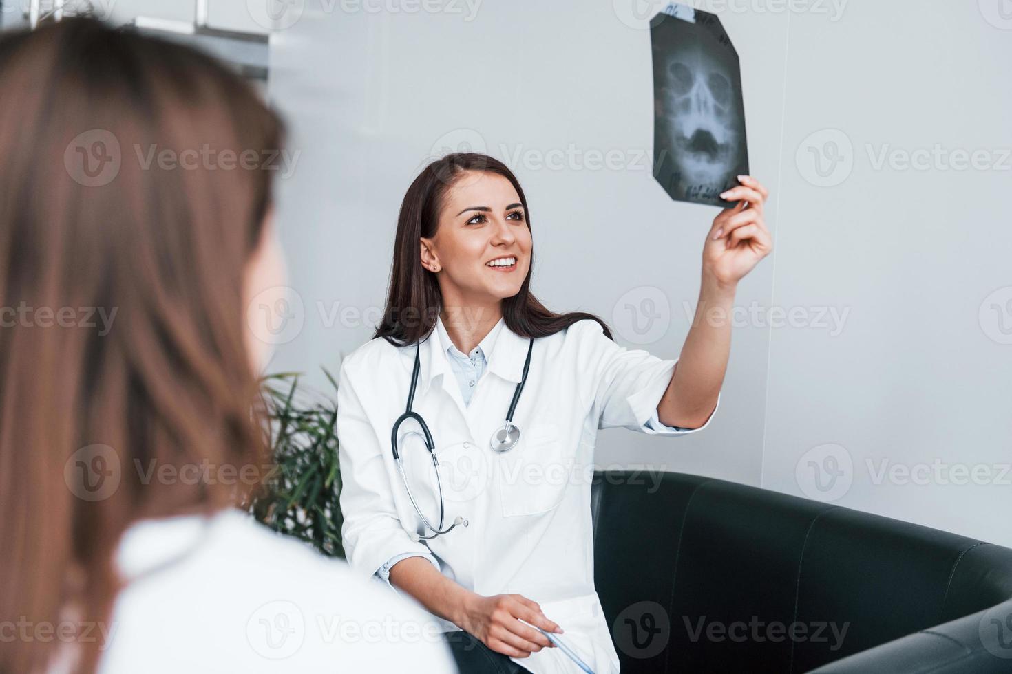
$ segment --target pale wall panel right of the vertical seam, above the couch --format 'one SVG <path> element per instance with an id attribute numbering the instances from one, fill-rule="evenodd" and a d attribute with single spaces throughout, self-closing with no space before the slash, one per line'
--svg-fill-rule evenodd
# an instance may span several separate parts
<path id="1" fill-rule="evenodd" d="M 790 18 L 773 302 L 849 316 L 837 336 L 772 330 L 762 485 L 1012 546 L 1012 20 L 982 11 L 999 5 Z M 852 150 L 820 187 L 795 154 L 826 128 Z M 919 149 L 926 170 L 903 163 Z M 950 168 L 974 151 L 981 169 Z M 809 461 L 829 453 L 851 468 L 820 491 Z"/>

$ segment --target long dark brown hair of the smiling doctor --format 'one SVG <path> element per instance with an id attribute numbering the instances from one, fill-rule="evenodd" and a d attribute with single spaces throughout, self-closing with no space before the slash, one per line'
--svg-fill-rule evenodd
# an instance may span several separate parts
<path id="1" fill-rule="evenodd" d="M 443 196 L 468 171 L 494 173 L 508 180 L 520 197 L 524 219 L 527 228 L 530 228 L 530 208 L 527 207 L 527 197 L 523 194 L 520 181 L 499 160 L 479 153 L 454 153 L 426 166 L 411 183 L 401 202 L 387 307 L 373 339 L 382 336 L 390 344 L 403 347 L 415 344 L 435 327 L 436 316 L 442 308 L 442 295 L 436 275 L 422 265 L 419 238 L 435 234 Z M 578 320 L 591 318 L 599 322 L 604 333 L 611 339 L 611 330 L 597 316 L 583 311 L 554 313 L 534 297 L 530 292 L 533 252 L 530 257 L 530 268 L 519 292 L 503 299 L 506 326 L 521 336 L 540 338 L 555 334 Z"/>

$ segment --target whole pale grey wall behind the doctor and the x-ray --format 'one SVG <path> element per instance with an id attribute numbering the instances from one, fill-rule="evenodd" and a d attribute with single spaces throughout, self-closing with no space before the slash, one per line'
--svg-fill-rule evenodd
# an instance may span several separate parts
<path id="1" fill-rule="evenodd" d="M 306 0 L 271 42 L 271 98 L 301 152 L 279 181 L 278 210 L 298 325 L 274 369 L 336 370 L 370 336 L 404 191 L 428 159 L 463 141 L 506 160 L 523 183 L 533 289 L 551 308 L 598 313 L 636 347 L 643 334 L 623 307 L 654 299 L 656 334 L 642 348 L 678 355 L 716 210 L 670 201 L 641 157 L 652 145 L 650 40 L 623 3 L 485 0 L 472 15 L 474 0 L 397 14 Z M 985 296 L 1012 285 L 1000 199 L 1010 174 L 876 170 L 864 148 L 1012 146 L 1009 31 L 974 3 L 730 6 L 718 13 L 742 57 L 751 168 L 772 190 L 775 238 L 736 303 L 793 310 L 796 326 L 770 327 L 767 313 L 735 328 L 705 431 L 608 431 L 598 462 L 834 498 L 1012 545 L 1012 486 L 875 485 L 864 463 L 981 463 L 995 482 L 1012 461 L 1012 346 L 989 338 L 1002 340 L 997 312 L 985 316 L 991 327 L 978 315 Z M 810 146 L 828 152 L 825 133 L 809 137 L 826 128 L 850 140 L 852 168 L 820 187 L 840 176 L 821 179 L 806 163 Z M 570 149 L 584 159 L 537 163 Z M 620 168 L 591 166 L 590 151 L 617 153 Z M 852 468 L 821 491 L 810 462 L 831 466 L 827 451 Z"/>

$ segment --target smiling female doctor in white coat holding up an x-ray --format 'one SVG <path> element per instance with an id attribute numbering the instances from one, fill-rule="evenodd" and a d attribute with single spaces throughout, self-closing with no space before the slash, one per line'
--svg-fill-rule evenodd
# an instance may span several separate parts
<path id="1" fill-rule="evenodd" d="M 709 423 L 731 327 L 702 312 L 728 315 L 772 250 L 767 191 L 739 181 L 703 245 L 678 361 L 534 297 L 530 212 L 499 161 L 449 155 L 408 189 L 383 321 L 341 365 L 341 535 L 353 568 L 433 614 L 465 674 L 582 671 L 535 628 L 597 674 L 618 671 L 594 589 L 597 430 Z"/>

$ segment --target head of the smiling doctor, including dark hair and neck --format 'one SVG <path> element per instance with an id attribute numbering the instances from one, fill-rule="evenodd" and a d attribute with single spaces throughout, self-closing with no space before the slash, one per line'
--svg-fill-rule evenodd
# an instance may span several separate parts
<path id="1" fill-rule="evenodd" d="M 525 338 L 555 334 L 592 318 L 555 313 L 530 290 L 534 247 L 530 210 L 509 167 L 482 153 L 430 162 L 401 201 L 382 322 L 372 335 L 398 347 L 420 344 L 441 319 L 471 353 L 504 319 Z"/>

